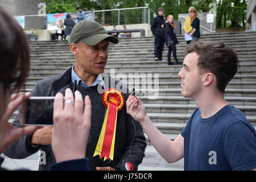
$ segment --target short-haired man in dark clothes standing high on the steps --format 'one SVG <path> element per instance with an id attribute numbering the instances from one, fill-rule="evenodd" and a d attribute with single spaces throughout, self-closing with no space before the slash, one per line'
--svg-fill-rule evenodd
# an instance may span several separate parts
<path id="1" fill-rule="evenodd" d="M 163 30 L 163 25 L 164 25 L 164 9 L 163 7 L 159 7 L 158 9 L 158 15 L 155 16 L 152 20 L 151 24 L 151 31 L 152 34 L 155 36 L 155 49 L 154 49 L 154 60 L 155 61 L 162 61 L 162 54 L 163 54 L 163 48 L 164 48 L 164 30 Z"/>

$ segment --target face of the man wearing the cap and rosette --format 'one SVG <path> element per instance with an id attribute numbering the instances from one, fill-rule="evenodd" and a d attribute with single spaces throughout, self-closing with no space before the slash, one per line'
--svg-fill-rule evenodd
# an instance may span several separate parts
<path id="1" fill-rule="evenodd" d="M 104 72 L 108 60 L 109 40 L 104 39 L 95 46 L 79 42 L 75 54 L 75 71 L 98 75 Z"/>

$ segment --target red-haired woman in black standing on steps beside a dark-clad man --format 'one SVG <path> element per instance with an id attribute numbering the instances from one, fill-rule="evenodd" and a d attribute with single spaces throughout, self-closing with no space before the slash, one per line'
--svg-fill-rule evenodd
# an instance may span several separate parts
<path id="1" fill-rule="evenodd" d="M 176 54 L 176 44 L 179 44 L 179 41 L 177 40 L 176 34 L 175 34 L 175 23 L 174 23 L 173 15 L 167 16 L 167 23 L 164 24 L 164 30 L 165 30 L 164 32 L 166 37 L 166 46 L 168 47 L 168 53 L 167 53 L 168 65 L 173 65 L 173 63 L 171 63 L 171 53 L 174 56 L 176 64 L 181 64 L 177 60 L 177 54 Z"/>

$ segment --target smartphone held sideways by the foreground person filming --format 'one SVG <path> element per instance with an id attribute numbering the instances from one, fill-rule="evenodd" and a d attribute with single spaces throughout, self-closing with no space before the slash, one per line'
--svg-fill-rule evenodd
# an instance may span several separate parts
<path id="1" fill-rule="evenodd" d="M 20 125 L 53 125 L 53 103 L 55 97 L 30 97 L 19 105 Z"/>

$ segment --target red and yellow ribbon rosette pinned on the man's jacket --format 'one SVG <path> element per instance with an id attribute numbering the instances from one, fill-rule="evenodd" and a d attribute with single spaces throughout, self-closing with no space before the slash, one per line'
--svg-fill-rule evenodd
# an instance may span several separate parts
<path id="1" fill-rule="evenodd" d="M 99 155 L 104 160 L 114 158 L 115 128 L 117 126 L 117 111 L 123 108 L 125 99 L 117 89 L 106 89 L 102 93 L 102 102 L 107 107 L 105 119 L 102 125 L 101 134 L 93 156 Z"/>

